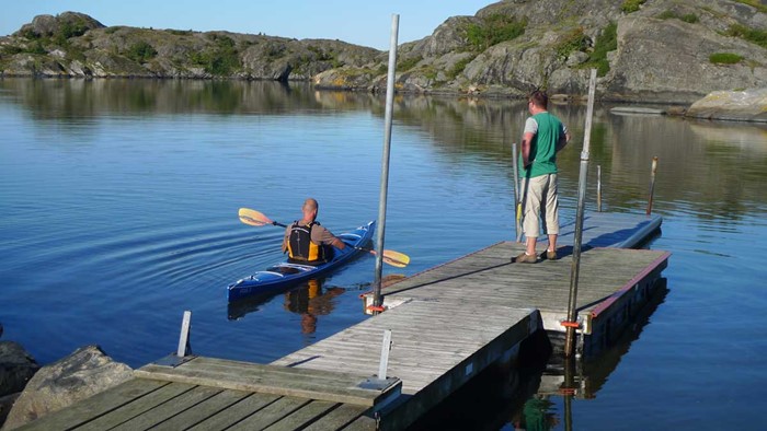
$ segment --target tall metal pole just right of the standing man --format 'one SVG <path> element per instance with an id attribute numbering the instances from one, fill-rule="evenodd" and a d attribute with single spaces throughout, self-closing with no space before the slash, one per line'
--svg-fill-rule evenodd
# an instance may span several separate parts
<path id="1" fill-rule="evenodd" d="M 581 242 L 583 240 L 583 213 L 586 203 L 586 179 L 588 173 L 588 144 L 592 139 L 592 116 L 594 115 L 594 93 L 596 88 L 596 69 L 592 69 L 588 81 L 588 108 L 586 127 L 583 132 L 583 151 L 581 152 L 581 175 L 577 185 L 577 213 L 575 214 L 575 240 L 573 242 L 573 263 L 570 267 L 570 301 L 568 304 L 568 325 L 564 335 L 564 356 L 571 357 L 575 347 L 575 318 L 577 316 L 577 277 L 581 268 Z"/>

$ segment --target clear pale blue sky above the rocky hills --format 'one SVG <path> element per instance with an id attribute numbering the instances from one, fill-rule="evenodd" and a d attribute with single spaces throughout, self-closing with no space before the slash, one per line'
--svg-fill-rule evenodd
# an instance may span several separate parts
<path id="1" fill-rule="evenodd" d="M 81 12 L 106 26 L 225 30 L 297 39 L 340 39 L 388 50 L 392 15 L 398 44 L 431 35 L 450 16 L 474 15 L 493 0 L 3 0 L 0 36 L 36 15 Z"/>

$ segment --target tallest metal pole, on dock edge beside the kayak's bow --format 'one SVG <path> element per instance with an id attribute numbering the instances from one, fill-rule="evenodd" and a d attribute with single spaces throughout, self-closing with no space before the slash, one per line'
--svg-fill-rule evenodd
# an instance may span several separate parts
<path id="1" fill-rule="evenodd" d="M 394 108 L 394 80 L 397 71 L 397 33 L 400 15 L 391 15 L 391 39 L 389 45 L 389 74 L 386 81 L 386 115 L 384 119 L 384 156 L 381 158 L 381 194 L 378 198 L 378 229 L 376 231 L 376 279 L 373 290 L 373 305 L 381 306 L 381 272 L 384 271 L 384 232 L 386 231 L 386 200 L 389 188 L 389 149 L 391 147 L 391 117 Z"/>

